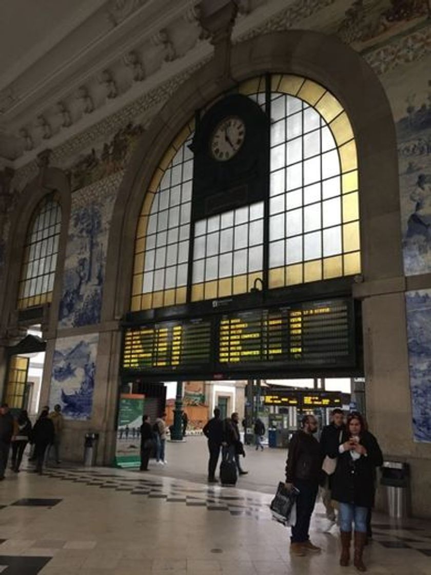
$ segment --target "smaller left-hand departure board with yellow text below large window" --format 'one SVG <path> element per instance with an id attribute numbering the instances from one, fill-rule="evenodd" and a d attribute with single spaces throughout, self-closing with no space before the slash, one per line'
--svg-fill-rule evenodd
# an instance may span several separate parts
<path id="1" fill-rule="evenodd" d="M 122 365 L 130 370 L 193 369 L 210 363 L 211 321 L 166 321 L 126 329 Z"/>

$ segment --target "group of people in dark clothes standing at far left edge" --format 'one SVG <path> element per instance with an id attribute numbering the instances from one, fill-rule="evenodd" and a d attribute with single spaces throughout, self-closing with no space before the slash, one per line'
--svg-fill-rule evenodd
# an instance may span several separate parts
<path id="1" fill-rule="evenodd" d="M 16 417 L 9 411 L 9 405 L 3 403 L 0 407 L 0 481 L 5 479 L 7 461 L 11 453 L 11 469 L 18 473 L 28 443 L 32 445 L 32 455 L 29 461 L 35 465 L 34 471 L 41 474 L 44 462 L 48 461 L 53 451 L 55 461 L 60 463 L 60 441 L 63 431 L 63 415 L 61 406 L 55 405 L 49 413 L 45 406 L 36 423 L 32 425 L 28 413 L 21 409 Z"/>

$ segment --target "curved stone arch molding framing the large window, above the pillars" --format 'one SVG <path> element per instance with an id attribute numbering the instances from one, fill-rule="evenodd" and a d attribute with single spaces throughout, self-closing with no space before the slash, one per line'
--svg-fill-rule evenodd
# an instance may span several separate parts
<path id="1" fill-rule="evenodd" d="M 361 259 L 365 281 L 402 276 L 398 159 L 390 104 L 375 72 L 336 37 L 307 30 L 265 34 L 233 45 L 230 73 L 210 60 L 167 102 L 141 137 L 118 193 L 107 252 L 102 318 L 130 306 L 133 245 L 145 190 L 171 141 L 195 110 L 265 72 L 305 76 L 343 105 L 356 138 L 360 174 Z"/>

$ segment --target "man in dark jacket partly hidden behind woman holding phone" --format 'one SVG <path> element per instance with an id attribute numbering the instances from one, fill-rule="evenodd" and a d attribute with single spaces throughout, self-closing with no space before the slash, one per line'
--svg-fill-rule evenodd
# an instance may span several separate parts
<path id="1" fill-rule="evenodd" d="M 329 425 L 325 425 L 320 436 L 322 456 L 324 458 L 328 457 L 332 459 L 333 462 L 333 468 L 330 470 L 322 469 L 321 476 L 322 502 L 325 505 L 326 517 L 331 523 L 330 527 L 333 526 L 336 519 L 335 509 L 332 505 L 331 483 L 332 475 L 337 465 L 337 458 L 333 458 L 332 455 L 334 452 L 337 453 L 337 448 L 343 439 L 343 432 L 345 430 L 343 410 L 340 408 L 333 409 L 331 418 L 331 423 Z M 326 459 L 326 461 L 328 461 L 328 459 Z M 328 471 L 332 471 L 332 473 L 328 473 Z"/>

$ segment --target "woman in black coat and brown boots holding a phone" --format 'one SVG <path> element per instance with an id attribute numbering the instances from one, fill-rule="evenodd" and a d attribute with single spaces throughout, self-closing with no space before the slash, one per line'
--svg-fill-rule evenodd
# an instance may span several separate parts
<path id="1" fill-rule="evenodd" d="M 338 447 L 337 467 L 333 474 L 332 498 L 338 501 L 341 535 L 340 565 L 350 561 L 352 523 L 355 525 L 355 557 L 353 564 L 366 571 L 362 555 L 367 541 L 367 513 L 374 505 L 375 469 L 383 464 L 379 444 L 367 431 L 360 413 L 351 413 L 347 429 Z"/>

